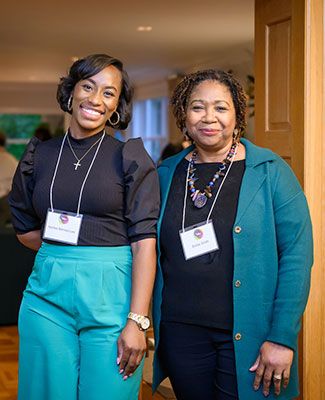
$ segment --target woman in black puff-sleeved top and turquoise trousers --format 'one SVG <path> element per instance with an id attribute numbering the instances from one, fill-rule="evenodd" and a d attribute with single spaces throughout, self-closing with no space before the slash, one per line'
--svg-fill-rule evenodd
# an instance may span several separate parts
<path id="1" fill-rule="evenodd" d="M 131 118 L 121 61 L 76 61 L 57 98 L 71 114 L 69 129 L 31 140 L 10 196 L 18 239 L 37 250 L 19 315 L 18 398 L 135 400 L 155 275 L 158 175 L 140 139 L 122 143 L 105 131 L 125 129 Z"/>

